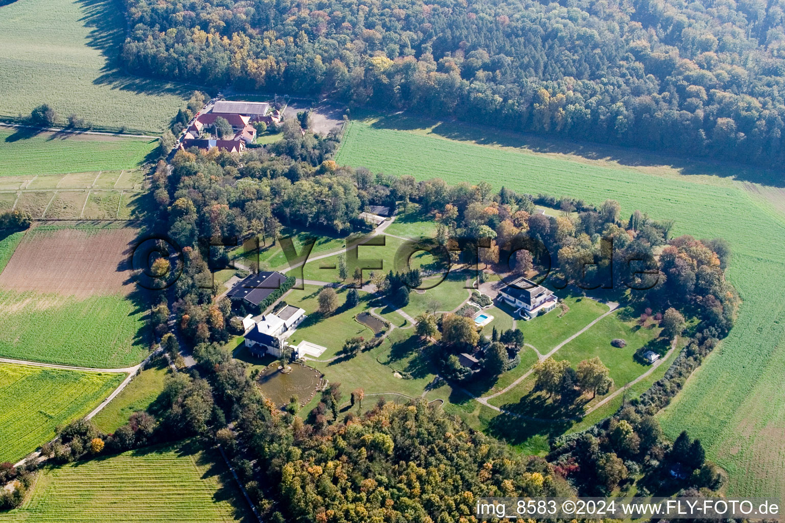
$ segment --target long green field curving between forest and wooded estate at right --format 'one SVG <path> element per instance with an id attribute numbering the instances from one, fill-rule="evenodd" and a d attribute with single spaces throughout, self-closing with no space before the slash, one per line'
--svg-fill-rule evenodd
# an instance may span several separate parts
<path id="1" fill-rule="evenodd" d="M 685 429 L 700 438 L 707 456 L 728 470 L 728 494 L 785 495 L 785 398 L 779 387 L 785 296 L 769 290 L 785 286 L 785 216 L 777 206 L 781 190 L 765 184 L 766 173 L 698 162 L 663 165 L 645 157 L 649 165 L 633 165 L 635 158 L 615 149 L 608 160 L 593 160 L 569 144 L 557 149 L 564 153 L 536 154 L 532 150 L 556 147 L 469 125 L 405 123 L 407 130 L 395 119 L 351 122 L 338 163 L 418 180 L 439 176 L 447 183 L 473 183 L 482 165 L 484 180 L 495 189 L 504 185 L 595 204 L 613 198 L 623 216 L 641 209 L 655 220 L 675 220 L 672 235 L 728 240 L 728 278 L 743 300 L 736 327 L 660 419 L 670 438 Z M 570 147 L 578 154 L 570 154 Z M 404 160 L 400 151 L 411 154 Z"/>

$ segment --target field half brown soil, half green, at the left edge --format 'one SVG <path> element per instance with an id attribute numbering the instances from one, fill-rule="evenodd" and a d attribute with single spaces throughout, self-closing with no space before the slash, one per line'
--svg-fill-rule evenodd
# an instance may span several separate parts
<path id="1" fill-rule="evenodd" d="M 144 358 L 146 297 L 125 283 L 137 231 L 109 225 L 39 225 L 0 241 L 13 252 L 0 273 L 0 356 L 101 369 Z"/>

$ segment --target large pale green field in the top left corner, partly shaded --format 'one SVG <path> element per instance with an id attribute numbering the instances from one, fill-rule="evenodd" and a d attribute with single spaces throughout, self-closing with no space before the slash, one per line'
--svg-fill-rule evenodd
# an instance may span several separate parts
<path id="1" fill-rule="evenodd" d="M 100 129 L 161 133 L 193 89 L 119 71 L 114 60 L 125 30 L 111 0 L 17 0 L 0 7 L 0 117 L 30 114 L 46 103 L 59 122 L 75 113 Z"/>

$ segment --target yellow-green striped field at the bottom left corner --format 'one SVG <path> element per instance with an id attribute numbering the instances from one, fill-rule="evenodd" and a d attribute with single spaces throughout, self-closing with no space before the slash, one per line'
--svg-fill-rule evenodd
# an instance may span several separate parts
<path id="1" fill-rule="evenodd" d="M 0 521 L 226 523 L 250 521 L 246 506 L 220 455 L 181 442 L 42 470 Z"/>

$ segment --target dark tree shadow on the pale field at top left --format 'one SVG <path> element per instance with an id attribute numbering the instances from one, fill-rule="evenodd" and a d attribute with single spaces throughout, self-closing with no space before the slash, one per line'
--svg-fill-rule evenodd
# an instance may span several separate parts
<path id="1" fill-rule="evenodd" d="M 131 76 L 123 69 L 120 53 L 126 39 L 126 31 L 130 31 L 130 27 L 122 15 L 125 11 L 122 2 L 78 0 L 78 4 L 84 15 L 79 21 L 91 29 L 87 45 L 100 50 L 106 60 L 104 67 L 101 67 L 102 74 L 93 80 L 93 83 L 111 85 L 112 89 L 123 89 L 138 94 L 171 94 L 183 98 L 190 96 L 193 86 Z"/>

